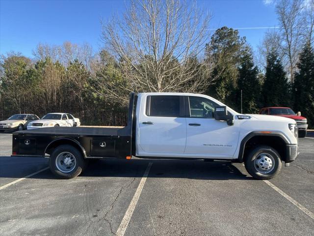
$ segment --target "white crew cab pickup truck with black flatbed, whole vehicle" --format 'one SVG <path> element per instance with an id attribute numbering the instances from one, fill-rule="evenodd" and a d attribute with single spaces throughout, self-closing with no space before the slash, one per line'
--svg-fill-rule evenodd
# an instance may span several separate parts
<path id="1" fill-rule="evenodd" d="M 13 156 L 46 156 L 72 178 L 95 158 L 204 159 L 244 162 L 258 179 L 274 177 L 298 155 L 296 122 L 242 115 L 192 93 L 131 93 L 125 127 L 52 127 L 13 134 Z M 209 173 L 210 175 L 210 173 Z"/>

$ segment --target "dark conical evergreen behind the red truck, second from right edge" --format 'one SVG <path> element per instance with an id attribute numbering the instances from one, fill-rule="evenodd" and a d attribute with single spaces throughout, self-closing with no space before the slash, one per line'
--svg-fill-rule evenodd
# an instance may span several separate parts
<path id="1" fill-rule="evenodd" d="M 266 74 L 262 86 L 263 106 L 289 106 L 289 83 L 278 53 L 272 50 L 267 55 Z"/>

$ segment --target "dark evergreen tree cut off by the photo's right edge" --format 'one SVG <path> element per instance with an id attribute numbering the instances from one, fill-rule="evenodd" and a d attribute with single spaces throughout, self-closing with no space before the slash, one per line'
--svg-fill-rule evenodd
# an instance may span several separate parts
<path id="1" fill-rule="evenodd" d="M 306 44 L 297 63 L 293 84 L 294 110 L 301 111 L 308 119 L 309 127 L 314 127 L 314 52 Z"/>

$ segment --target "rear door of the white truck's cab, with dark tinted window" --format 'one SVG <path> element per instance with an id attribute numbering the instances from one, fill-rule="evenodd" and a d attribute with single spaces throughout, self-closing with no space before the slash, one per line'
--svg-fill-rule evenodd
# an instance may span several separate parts
<path id="1" fill-rule="evenodd" d="M 137 155 L 182 154 L 186 142 L 184 97 L 157 94 L 145 96 L 141 97 L 136 119 Z"/>

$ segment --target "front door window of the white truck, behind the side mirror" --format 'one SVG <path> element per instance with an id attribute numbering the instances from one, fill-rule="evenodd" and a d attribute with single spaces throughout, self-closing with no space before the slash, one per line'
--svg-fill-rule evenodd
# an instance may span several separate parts
<path id="1" fill-rule="evenodd" d="M 188 98 L 191 118 L 214 118 L 217 103 L 204 97 L 189 96 Z"/>

